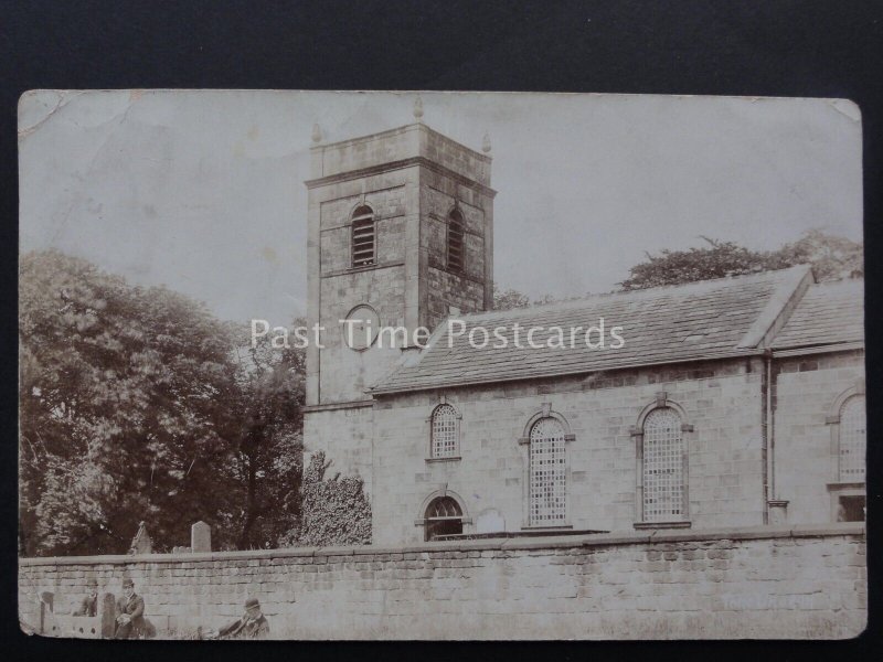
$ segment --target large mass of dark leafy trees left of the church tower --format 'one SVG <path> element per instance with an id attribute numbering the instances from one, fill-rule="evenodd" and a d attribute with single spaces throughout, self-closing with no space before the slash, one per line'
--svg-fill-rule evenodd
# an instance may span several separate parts
<path id="1" fill-rule="evenodd" d="M 298 357 L 237 360 L 203 305 L 57 252 L 22 256 L 19 288 L 22 555 L 124 553 L 141 520 L 158 549 L 198 520 L 221 548 L 290 527 Z"/>

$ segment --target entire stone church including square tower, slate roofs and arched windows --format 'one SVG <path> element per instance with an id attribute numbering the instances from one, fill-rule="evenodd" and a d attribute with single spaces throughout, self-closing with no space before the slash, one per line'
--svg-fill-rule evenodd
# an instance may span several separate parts
<path id="1" fill-rule="evenodd" d="M 362 478 L 374 544 L 864 519 L 861 280 L 493 311 L 487 141 L 313 139 L 305 451 Z"/>

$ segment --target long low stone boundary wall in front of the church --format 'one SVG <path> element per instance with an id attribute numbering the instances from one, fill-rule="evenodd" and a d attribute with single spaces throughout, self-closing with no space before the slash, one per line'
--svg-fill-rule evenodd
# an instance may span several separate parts
<path id="1" fill-rule="evenodd" d="M 283 639 L 849 638 L 866 623 L 864 527 L 631 532 L 20 559 L 21 618 L 95 578 L 143 596 L 158 636 L 219 627 L 257 597 Z"/>

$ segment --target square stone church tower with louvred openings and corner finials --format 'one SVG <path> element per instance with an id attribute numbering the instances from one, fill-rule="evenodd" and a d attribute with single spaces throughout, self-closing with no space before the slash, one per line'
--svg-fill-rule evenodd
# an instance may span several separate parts
<path id="1" fill-rule="evenodd" d="M 358 473 L 369 491 L 368 389 L 416 351 L 415 329 L 492 307 L 491 158 L 422 124 L 419 102 L 414 115 L 329 145 L 317 127 L 305 182 L 308 319 L 325 329 L 307 354 L 306 459 L 326 451 L 332 471 Z M 383 327 L 406 329 L 407 341 L 376 338 Z"/>

